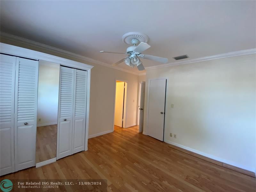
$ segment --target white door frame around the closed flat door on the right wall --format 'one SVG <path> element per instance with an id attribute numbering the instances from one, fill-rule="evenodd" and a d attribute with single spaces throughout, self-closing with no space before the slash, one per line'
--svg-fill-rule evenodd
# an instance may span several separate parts
<path id="1" fill-rule="evenodd" d="M 169 88 L 169 77 L 161 77 L 161 78 L 156 78 L 156 79 L 148 79 L 148 95 L 147 95 L 147 121 L 146 121 L 146 131 L 144 132 L 143 129 L 143 134 L 148 135 L 148 113 L 149 113 L 149 90 L 150 90 L 150 81 L 151 80 L 162 80 L 162 79 L 166 79 L 166 88 L 165 88 L 165 105 L 164 105 L 164 135 L 165 135 L 165 124 L 166 124 L 166 106 L 168 106 L 168 100 L 167 100 L 167 95 L 168 95 L 168 88 Z M 145 106 L 144 106 L 145 108 Z M 167 113 L 168 115 L 168 113 Z"/>

